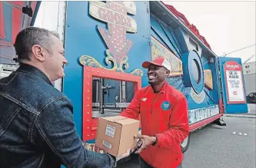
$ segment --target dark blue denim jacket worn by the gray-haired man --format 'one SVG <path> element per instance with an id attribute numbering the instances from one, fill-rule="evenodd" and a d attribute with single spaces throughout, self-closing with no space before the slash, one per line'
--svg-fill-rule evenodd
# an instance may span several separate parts
<path id="1" fill-rule="evenodd" d="M 38 68 L 21 64 L 0 80 L 0 167 L 101 167 L 108 153 L 86 150 L 72 121 L 71 101 Z"/>

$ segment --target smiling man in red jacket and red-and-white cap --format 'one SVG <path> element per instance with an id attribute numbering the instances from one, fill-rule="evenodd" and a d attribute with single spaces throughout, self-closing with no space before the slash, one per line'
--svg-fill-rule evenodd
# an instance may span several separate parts
<path id="1" fill-rule="evenodd" d="M 180 144 L 188 137 L 188 104 L 180 91 L 166 82 L 171 64 L 165 58 L 145 61 L 148 87 L 135 94 L 121 116 L 141 117 L 141 168 L 181 167 L 183 155 Z"/>

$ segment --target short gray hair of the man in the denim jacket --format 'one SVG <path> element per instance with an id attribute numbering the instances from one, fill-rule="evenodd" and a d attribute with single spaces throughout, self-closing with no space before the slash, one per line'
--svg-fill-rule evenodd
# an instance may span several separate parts
<path id="1" fill-rule="evenodd" d="M 18 62 L 31 61 L 32 46 L 38 44 L 52 53 L 51 45 L 53 41 L 51 35 L 59 38 L 55 31 L 48 31 L 45 28 L 28 27 L 18 32 L 15 39 L 15 51 L 18 55 Z"/>

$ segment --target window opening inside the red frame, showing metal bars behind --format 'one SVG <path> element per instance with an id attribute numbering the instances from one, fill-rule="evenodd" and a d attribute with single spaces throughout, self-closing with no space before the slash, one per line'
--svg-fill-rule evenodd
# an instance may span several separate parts
<path id="1" fill-rule="evenodd" d="M 103 77 L 92 79 L 92 118 L 117 116 L 134 97 L 134 84 Z"/>

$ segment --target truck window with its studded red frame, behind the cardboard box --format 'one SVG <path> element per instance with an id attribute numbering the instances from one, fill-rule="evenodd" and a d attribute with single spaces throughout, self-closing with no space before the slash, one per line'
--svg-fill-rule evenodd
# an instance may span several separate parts
<path id="1" fill-rule="evenodd" d="M 88 66 L 83 71 L 83 140 L 92 140 L 98 118 L 117 116 L 125 110 L 141 89 L 141 76 Z"/>

